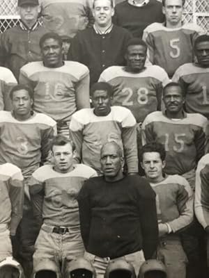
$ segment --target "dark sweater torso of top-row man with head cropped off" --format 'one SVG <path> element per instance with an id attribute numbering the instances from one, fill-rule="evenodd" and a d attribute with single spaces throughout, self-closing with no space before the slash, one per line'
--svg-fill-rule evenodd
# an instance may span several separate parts
<path id="1" fill-rule="evenodd" d="M 164 22 L 162 3 L 157 0 L 126 0 L 115 7 L 114 24 L 126 28 L 134 37 L 142 38 L 146 26 Z"/>

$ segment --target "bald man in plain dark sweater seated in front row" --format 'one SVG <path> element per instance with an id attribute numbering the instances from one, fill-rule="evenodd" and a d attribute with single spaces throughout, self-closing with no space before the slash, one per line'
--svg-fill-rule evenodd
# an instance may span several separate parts
<path id="1" fill-rule="evenodd" d="M 103 145 L 104 177 L 86 181 L 78 196 L 84 257 L 93 263 L 98 278 L 111 259 L 121 257 L 138 273 L 157 246 L 155 193 L 137 174 L 124 177 L 123 162 L 116 142 Z"/>

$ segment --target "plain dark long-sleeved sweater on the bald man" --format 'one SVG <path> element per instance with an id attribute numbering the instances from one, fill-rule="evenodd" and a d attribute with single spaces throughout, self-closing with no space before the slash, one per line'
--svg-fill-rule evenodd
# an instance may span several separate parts
<path id="1" fill-rule="evenodd" d="M 100 257 L 124 256 L 143 250 L 146 259 L 157 247 L 155 193 L 138 175 L 113 183 L 95 177 L 78 197 L 86 251 Z"/>

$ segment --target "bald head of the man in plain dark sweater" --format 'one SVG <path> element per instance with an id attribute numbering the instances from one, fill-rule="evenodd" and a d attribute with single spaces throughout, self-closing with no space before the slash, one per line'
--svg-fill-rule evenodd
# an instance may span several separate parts
<path id="1" fill-rule="evenodd" d="M 123 177 L 123 152 L 116 142 L 107 142 L 102 146 L 100 163 L 107 181 L 117 181 Z"/>

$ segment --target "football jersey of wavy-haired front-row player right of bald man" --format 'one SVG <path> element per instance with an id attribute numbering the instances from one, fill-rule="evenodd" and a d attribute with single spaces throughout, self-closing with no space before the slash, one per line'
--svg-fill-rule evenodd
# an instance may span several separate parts
<path id="1" fill-rule="evenodd" d="M 178 174 L 166 176 L 159 183 L 150 182 L 156 193 L 157 220 L 167 222 L 173 233 L 193 220 L 193 193 L 189 183 Z"/>

